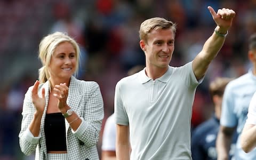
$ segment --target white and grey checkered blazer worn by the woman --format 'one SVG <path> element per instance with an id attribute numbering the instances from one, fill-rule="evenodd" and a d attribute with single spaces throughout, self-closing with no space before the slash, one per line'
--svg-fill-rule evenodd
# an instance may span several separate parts
<path id="1" fill-rule="evenodd" d="M 19 133 L 20 148 L 26 155 L 34 153 L 36 150 L 36 159 L 46 159 L 46 142 L 44 134 L 44 119 L 46 108 L 49 100 L 49 82 L 39 85 L 38 94 L 41 96 L 42 89 L 45 88 L 46 105 L 41 120 L 41 137 L 39 140 L 29 137 L 25 133 L 31 123 L 35 108 L 31 99 L 32 86 L 29 87 L 25 94 L 22 110 L 21 131 Z M 41 95 L 40 95 L 41 94 Z M 67 104 L 82 119 L 79 130 L 74 132 L 66 123 L 67 137 L 67 153 L 69 159 L 99 159 L 97 151 L 97 142 L 99 140 L 99 132 L 104 116 L 103 100 L 99 85 L 96 82 L 86 82 L 71 77 Z"/>

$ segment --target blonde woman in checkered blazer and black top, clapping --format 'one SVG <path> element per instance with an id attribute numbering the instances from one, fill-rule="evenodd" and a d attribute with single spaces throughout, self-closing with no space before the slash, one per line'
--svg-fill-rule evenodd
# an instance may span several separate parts
<path id="1" fill-rule="evenodd" d="M 39 45 L 39 81 L 23 102 L 20 148 L 36 159 L 99 159 L 97 142 L 103 119 L 99 85 L 76 79 L 79 47 L 56 32 Z"/>

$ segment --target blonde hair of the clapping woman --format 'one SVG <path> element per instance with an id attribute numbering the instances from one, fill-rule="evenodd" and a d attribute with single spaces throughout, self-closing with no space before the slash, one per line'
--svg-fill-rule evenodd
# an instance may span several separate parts
<path id="1" fill-rule="evenodd" d="M 61 33 L 59 31 L 49 34 L 45 36 L 42 41 L 39 44 L 39 53 L 38 57 L 42 62 L 42 67 L 39 69 L 39 82 L 45 83 L 50 78 L 49 74 L 49 65 L 52 58 L 52 55 L 56 49 L 56 47 L 63 42 L 69 42 L 73 45 L 75 52 L 76 52 L 76 68 L 75 68 L 75 74 L 78 72 L 79 67 L 79 57 L 80 57 L 80 50 L 79 46 L 76 43 L 76 41 L 69 37 L 66 33 Z"/>

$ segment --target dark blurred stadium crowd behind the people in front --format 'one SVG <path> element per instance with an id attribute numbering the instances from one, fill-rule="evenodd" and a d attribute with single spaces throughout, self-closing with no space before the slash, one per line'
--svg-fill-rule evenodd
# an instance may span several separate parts
<path id="1" fill-rule="evenodd" d="M 0 1 L 0 159 L 22 159 L 18 142 L 23 98 L 41 66 L 38 45 L 54 31 L 67 32 L 81 45 L 78 79 L 99 83 L 105 119 L 114 111 L 115 85 L 127 70 L 145 65 L 139 25 L 151 17 L 177 23 L 172 66 L 193 60 L 215 28 L 207 6 L 228 7 L 236 18 L 226 42 L 199 85 L 192 126 L 213 111 L 208 86 L 218 76 L 236 78 L 250 68 L 246 39 L 256 31 L 256 1 L 231 0 L 86 0 Z M 102 128 L 103 128 L 102 125 Z M 99 154 L 101 139 L 99 140 Z"/>

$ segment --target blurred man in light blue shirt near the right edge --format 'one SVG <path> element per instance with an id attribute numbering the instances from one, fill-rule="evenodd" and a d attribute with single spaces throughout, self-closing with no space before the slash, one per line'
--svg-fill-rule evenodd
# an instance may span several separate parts
<path id="1" fill-rule="evenodd" d="M 228 158 L 231 136 L 235 130 L 238 134 L 235 159 L 256 159 L 256 150 L 246 154 L 241 148 L 240 139 L 248 107 L 256 91 L 256 34 L 249 39 L 248 57 L 252 62 L 252 69 L 247 74 L 231 81 L 223 95 L 220 131 L 217 138 L 218 159 L 221 160 Z"/>

